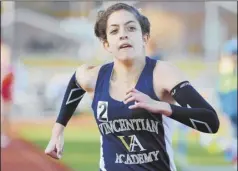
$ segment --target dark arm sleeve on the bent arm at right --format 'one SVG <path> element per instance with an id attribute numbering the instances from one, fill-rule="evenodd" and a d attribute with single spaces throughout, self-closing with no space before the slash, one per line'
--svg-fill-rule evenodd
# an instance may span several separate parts
<path id="1" fill-rule="evenodd" d="M 216 111 L 189 82 L 178 84 L 171 95 L 181 107 L 170 104 L 169 117 L 201 132 L 218 131 L 220 123 Z"/>

